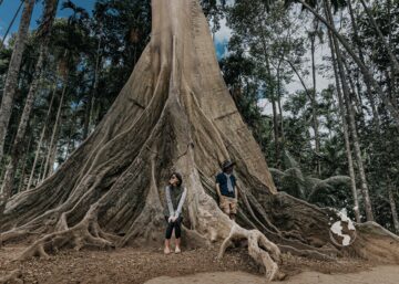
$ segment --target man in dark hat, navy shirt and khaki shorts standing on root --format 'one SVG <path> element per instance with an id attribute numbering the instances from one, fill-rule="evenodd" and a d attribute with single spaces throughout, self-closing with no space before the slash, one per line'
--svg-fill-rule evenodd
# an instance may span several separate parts
<path id="1" fill-rule="evenodd" d="M 236 178 L 233 175 L 235 162 L 225 160 L 222 164 L 223 172 L 216 176 L 216 192 L 219 198 L 219 207 L 233 221 L 237 214 L 237 197 Z"/>

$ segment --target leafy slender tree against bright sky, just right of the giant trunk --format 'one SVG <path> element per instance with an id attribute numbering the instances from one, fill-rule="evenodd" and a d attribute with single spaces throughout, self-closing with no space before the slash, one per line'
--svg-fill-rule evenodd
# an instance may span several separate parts
<path id="1" fill-rule="evenodd" d="M 255 62 L 257 78 L 264 85 L 259 92 L 272 104 L 273 161 L 276 164 L 280 162 L 284 148 L 284 83 L 289 82 L 294 62 L 300 61 L 298 57 L 304 53 L 303 40 L 296 33 L 298 27 L 291 18 L 295 14 L 286 13 L 283 2 L 269 6 L 265 1 L 253 1 L 248 9 L 248 2 L 243 0 L 227 9 L 227 22 L 233 38 L 237 39 L 236 45 L 246 50 Z"/>

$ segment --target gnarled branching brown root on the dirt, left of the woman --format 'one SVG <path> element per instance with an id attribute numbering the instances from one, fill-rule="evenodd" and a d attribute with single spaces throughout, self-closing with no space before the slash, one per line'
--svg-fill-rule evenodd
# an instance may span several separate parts
<path id="1" fill-rule="evenodd" d="M 29 246 L 18 260 L 27 260 L 32 256 L 49 257 L 48 252 L 57 252 L 64 246 L 72 246 L 76 251 L 83 246 L 95 246 L 99 249 L 113 249 L 114 243 L 109 241 L 108 234 L 103 233 L 96 221 L 96 206 L 92 206 L 84 219 L 72 228 L 68 228 L 65 215 L 60 219 L 59 229 L 35 241 Z"/>

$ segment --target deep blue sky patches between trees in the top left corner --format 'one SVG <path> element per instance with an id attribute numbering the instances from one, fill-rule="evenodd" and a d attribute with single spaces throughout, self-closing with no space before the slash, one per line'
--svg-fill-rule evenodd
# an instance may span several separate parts
<path id="1" fill-rule="evenodd" d="M 60 0 L 59 3 L 59 11 L 57 13 L 57 17 L 68 17 L 70 12 L 68 10 L 61 10 L 63 0 Z M 75 0 L 73 1 L 75 4 L 86 9 L 88 12 L 91 12 L 94 7 L 95 0 Z M 2 38 L 6 33 L 7 28 L 9 27 L 14 13 L 18 10 L 18 7 L 20 4 L 20 0 L 3 0 L 3 3 L 0 6 L 0 36 Z M 39 1 L 39 3 L 35 4 L 31 21 L 31 27 L 34 28 L 38 25 L 38 20 L 41 17 L 41 13 L 43 11 L 42 1 Z M 11 29 L 11 33 L 16 32 L 18 30 L 19 21 L 21 19 L 22 9 L 16 19 L 16 22 Z"/>

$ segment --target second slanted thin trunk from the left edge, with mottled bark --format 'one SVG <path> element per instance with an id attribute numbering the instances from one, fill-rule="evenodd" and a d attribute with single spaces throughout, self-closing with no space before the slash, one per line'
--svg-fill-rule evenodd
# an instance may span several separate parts
<path id="1" fill-rule="evenodd" d="M 45 57 L 48 56 L 49 52 L 49 43 L 51 36 L 51 29 L 53 25 L 53 21 L 57 13 L 58 8 L 58 0 L 47 0 L 44 6 L 44 12 L 41 21 L 41 27 L 39 28 L 39 39 L 41 41 L 40 51 L 39 51 L 39 59 L 35 65 L 33 81 L 30 84 L 29 93 L 25 99 L 25 105 L 22 112 L 21 120 L 19 123 L 19 127 L 17 130 L 16 139 L 12 145 L 11 149 L 11 160 L 7 166 L 7 171 L 4 176 L 4 181 L 2 183 L 1 191 L 3 192 L 3 198 L 9 198 L 11 196 L 14 175 L 18 167 L 18 161 L 22 156 L 22 144 L 24 140 L 29 117 L 31 115 L 31 111 L 34 103 L 34 97 L 38 92 L 38 85 L 42 77 L 42 69 L 44 66 Z"/>

